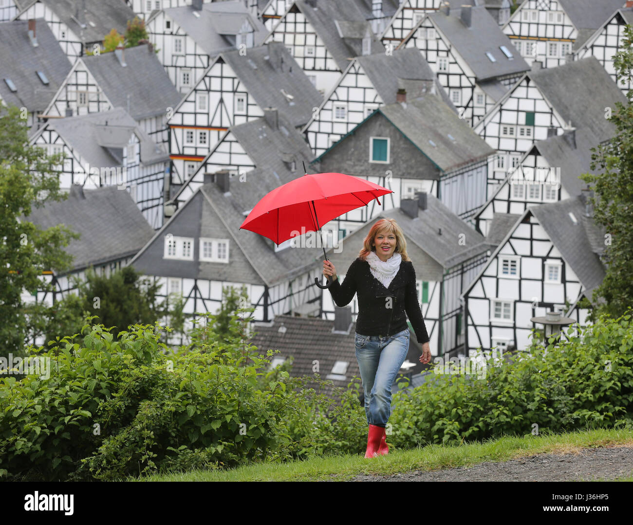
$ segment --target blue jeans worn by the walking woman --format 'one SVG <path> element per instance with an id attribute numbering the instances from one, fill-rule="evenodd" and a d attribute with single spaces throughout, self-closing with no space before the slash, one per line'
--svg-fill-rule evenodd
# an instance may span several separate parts
<path id="1" fill-rule="evenodd" d="M 387 426 L 391 415 L 391 385 L 409 352 L 409 328 L 391 337 L 354 337 L 356 361 L 365 391 L 367 424 Z"/>

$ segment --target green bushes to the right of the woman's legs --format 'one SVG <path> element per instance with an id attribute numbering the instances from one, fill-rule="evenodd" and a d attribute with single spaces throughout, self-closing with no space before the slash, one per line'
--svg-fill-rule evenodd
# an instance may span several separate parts
<path id="1" fill-rule="evenodd" d="M 627 312 L 628 313 L 628 312 Z M 630 314 L 602 316 L 579 337 L 532 343 L 486 377 L 433 374 L 394 394 L 391 441 L 410 447 L 633 423 L 633 325 Z M 577 326 L 577 325 L 575 325 Z M 568 334 L 572 333 L 570 327 Z M 483 374 L 482 374 L 483 375 Z M 534 426 L 534 424 L 537 425 Z"/>

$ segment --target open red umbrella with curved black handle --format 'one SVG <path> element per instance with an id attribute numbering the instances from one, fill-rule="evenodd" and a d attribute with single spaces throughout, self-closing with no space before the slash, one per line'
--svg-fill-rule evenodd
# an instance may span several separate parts
<path id="1" fill-rule="evenodd" d="M 278 246 L 302 228 L 306 232 L 318 230 L 323 247 L 321 225 L 348 211 L 367 206 L 373 199 L 380 204 L 378 197 L 390 193 L 393 192 L 378 184 L 343 173 L 306 173 L 268 192 L 239 229 L 259 233 Z M 327 261 L 325 247 L 323 256 Z M 323 286 L 315 277 L 319 288 L 329 288 L 332 277 L 327 276 L 327 281 Z"/>

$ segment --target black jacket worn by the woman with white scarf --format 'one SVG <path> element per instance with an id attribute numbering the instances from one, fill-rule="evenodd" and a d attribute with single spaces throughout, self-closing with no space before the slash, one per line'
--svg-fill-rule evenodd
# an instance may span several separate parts
<path id="1" fill-rule="evenodd" d="M 408 328 L 406 317 L 411 321 L 418 343 L 429 341 L 427 327 L 422 318 L 415 288 L 413 262 L 402 261 L 398 273 L 389 287 L 372 275 L 369 263 L 357 257 L 349 266 L 342 283 L 339 278 L 328 288 L 336 306 L 346 306 L 358 295 L 356 333 L 360 335 L 389 336 Z M 391 297 L 392 299 L 387 299 Z M 405 316 L 406 312 L 406 316 Z"/>

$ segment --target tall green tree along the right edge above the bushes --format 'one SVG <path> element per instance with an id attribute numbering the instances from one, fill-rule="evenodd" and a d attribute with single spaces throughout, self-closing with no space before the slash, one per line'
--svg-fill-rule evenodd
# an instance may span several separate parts
<path id="1" fill-rule="evenodd" d="M 613 65 L 619 80 L 633 77 L 633 32 L 625 27 L 621 51 L 615 54 Z M 591 170 L 599 168 L 598 175 L 586 173 L 581 180 L 593 183 L 594 219 L 605 226 L 605 279 L 594 290 L 592 301 L 606 300 L 591 313 L 590 320 L 606 313 L 618 317 L 633 304 L 633 90 L 627 94 L 626 106 L 616 102 L 616 108 L 605 108 L 605 117 L 611 118 L 617 135 L 598 147 L 592 148 Z"/>

